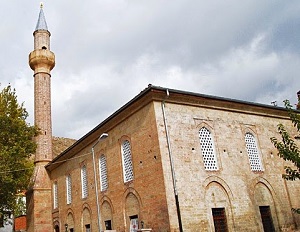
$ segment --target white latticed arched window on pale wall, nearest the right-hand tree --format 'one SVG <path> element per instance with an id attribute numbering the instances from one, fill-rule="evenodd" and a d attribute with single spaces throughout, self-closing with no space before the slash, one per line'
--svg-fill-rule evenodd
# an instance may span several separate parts
<path id="1" fill-rule="evenodd" d="M 246 133 L 245 142 L 251 170 L 262 171 L 261 160 L 259 157 L 259 152 L 254 136 L 251 133 Z"/>

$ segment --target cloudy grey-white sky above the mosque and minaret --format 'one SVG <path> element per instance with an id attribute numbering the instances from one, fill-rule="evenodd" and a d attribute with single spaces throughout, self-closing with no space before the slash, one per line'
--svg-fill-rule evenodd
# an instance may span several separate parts
<path id="1" fill-rule="evenodd" d="M 271 105 L 297 102 L 300 1 L 45 0 L 53 135 L 79 139 L 148 84 Z M 0 3 L 0 83 L 33 125 L 40 1 Z"/>

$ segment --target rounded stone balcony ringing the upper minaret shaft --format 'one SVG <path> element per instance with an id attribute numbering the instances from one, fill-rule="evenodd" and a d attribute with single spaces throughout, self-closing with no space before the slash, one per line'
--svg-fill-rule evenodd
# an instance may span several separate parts
<path id="1" fill-rule="evenodd" d="M 37 49 L 29 54 L 30 68 L 36 73 L 50 73 L 55 66 L 55 55 L 47 49 Z"/>

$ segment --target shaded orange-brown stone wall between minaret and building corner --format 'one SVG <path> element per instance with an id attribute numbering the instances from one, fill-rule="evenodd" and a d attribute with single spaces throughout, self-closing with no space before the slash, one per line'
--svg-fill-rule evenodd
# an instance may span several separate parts
<path id="1" fill-rule="evenodd" d="M 111 217 L 113 229 L 129 231 L 129 218 L 138 215 L 144 227 L 154 231 L 168 231 L 168 211 L 164 191 L 161 157 L 157 140 L 156 121 L 152 104 L 126 118 L 107 132 L 109 137 L 95 147 L 97 180 L 99 189 L 99 157 L 107 160 L 108 189 L 99 194 L 102 229 L 104 221 Z M 102 133 L 101 132 L 101 133 Z M 99 132 L 99 134 L 101 134 Z M 121 144 L 127 139 L 131 144 L 134 180 L 124 183 Z M 96 142 L 96 141 L 94 141 Z M 51 172 L 52 182 L 58 183 L 58 209 L 53 210 L 53 220 L 60 225 L 74 220 L 75 231 L 81 231 L 90 220 L 91 230 L 97 229 L 94 171 L 91 146 L 87 144 L 76 156 Z M 87 166 L 88 197 L 81 198 L 80 167 Z M 72 203 L 66 204 L 66 176 L 72 178 Z M 86 212 L 83 215 L 83 212 Z M 87 213 L 89 212 L 89 214 Z M 71 214 L 71 216 L 70 216 Z M 69 215 L 69 216 L 68 216 Z M 83 216 L 90 219 L 82 220 Z M 141 223 L 139 223 L 141 226 Z"/>

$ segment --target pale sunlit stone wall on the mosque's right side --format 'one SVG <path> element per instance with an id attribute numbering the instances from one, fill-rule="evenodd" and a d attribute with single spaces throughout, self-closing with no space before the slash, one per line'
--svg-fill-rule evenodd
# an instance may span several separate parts
<path id="1" fill-rule="evenodd" d="M 178 224 L 174 210 L 170 159 L 161 104 L 155 104 L 163 157 L 171 231 Z M 169 128 L 172 157 L 184 231 L 214 231 L 212 208 L 225 208 L 229 231 L 263 231 L 259 206 L 270 206 L 276 231 L 293 230 L 299 217 L 291 207 L 299 207 L 299 183 L 281 178 L 284 163 L 270 142 L 278 136 L 277 124 L 292 129 L 290 121 L 268 115 L 231 112 L 228 109 L 182 106 L 167 103 L 165 114 Z M 214 140 L 218 170 L 204 168 L 199 130 L 208 128 Z M 250 169 L 245 133 L 256 138 L 263 171 Z M 288 188 L 290 187 L 290 188 Z"/>

